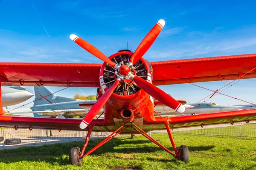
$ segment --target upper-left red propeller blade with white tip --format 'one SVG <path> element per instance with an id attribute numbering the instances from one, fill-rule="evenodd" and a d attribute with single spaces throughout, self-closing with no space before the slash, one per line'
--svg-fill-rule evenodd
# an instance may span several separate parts
<path id="1" fill-rule="evenodd" d="M 112 67 L 116 66 L 116 63 L 114 63 L 113 61 L 111 61 L 111 59 L 109 59 L 107 56 L 105 56 L 101 51 L 99 51 L 96 47 L 94 47 L 93 45 L 91 45 L 90 43 L 84 41 L 83 39 L 81 39 L 80 37 L 76 36 L 75 34 L 71 34 L 70 35 L 70 39 L 74 42 L 76 42 L 79 46 L 81 46 L 82 48 L 84 48 L 86 51 L 88 51 L 90 54 L 93 54 L 94 56 L 98 57 L 99 59 L 101 59 L 102 61 L 108 63 L 109 65 L 111 65 Z"/>

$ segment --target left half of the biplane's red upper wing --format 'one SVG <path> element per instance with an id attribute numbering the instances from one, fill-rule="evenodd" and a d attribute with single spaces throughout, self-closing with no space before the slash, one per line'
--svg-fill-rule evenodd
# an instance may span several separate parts
<path id="1" fill-rule="evenodd" d="M 99 87 L 102 64 L 0 62 L 2 85 Z"/>

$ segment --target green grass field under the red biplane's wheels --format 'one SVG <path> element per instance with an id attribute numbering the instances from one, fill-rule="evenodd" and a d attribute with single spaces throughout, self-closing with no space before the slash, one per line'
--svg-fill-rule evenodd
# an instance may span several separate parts
<path id="1" fill-rule="evenodd" d="M 171 148 L 167 134 L 152 134 Z M 70 147 L 83 142 L 47 144 L 0 151 L 0 170 L 256 170 L 256 139 L 174 134 L 176 145 L 186 144 L 190 162 L 185 164 L 143 136 L 118 137 L 83 159 L 81 167 L 69 164 Z M 100 140 L 90 140 L 87 150 Z"/>

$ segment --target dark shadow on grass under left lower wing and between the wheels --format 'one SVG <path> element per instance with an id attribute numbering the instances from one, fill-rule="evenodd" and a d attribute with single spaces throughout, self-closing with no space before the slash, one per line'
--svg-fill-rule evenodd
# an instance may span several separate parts
<path id="1" fill-rule="evenodd" d="M 101 141 L 102 139 L 90 140 L 85 153 Z M 60 165 L 64 165 L 69 163 L 68 157 L 70 148 L 77 145 L 81 149 L 83 143 L 84 142 L 57 143 L 0 150 L 0 161 L 4 163 L 18 161 L 47 161 L 51 164 L 57 162 Z M 117 149 L 114 148 L 119 145 L 124 146 L 120 146 Z M 90 155 L 95 156 L 105 153 L 153 153 L 158 150 L 162 149 L 157 146 L 151 147 L 151 142 L 148 140 L 114 138 Z"/>

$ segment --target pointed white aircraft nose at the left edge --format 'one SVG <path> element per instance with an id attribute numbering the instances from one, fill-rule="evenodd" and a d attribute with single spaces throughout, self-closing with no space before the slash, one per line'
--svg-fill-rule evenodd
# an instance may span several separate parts
<path id="1" fill-rule="evenodd" d="M 17 105 L 25 102 L 27 99 L 34 96 L 34 94 L 26 91 L 26 88 L 19 86 L 2 87 L 2 102 L 3 107 Z"/>

